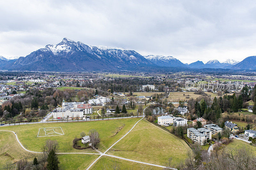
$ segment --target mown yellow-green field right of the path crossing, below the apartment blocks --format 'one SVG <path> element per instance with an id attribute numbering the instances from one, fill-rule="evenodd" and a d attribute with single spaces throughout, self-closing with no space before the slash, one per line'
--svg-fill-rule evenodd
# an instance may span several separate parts
<path id="1" fill-rule="evenodd" d="M 184 140 L 143 119 L 108 154 L 164 166 L 170 157 L 184 161 L 190 151 Z"/>

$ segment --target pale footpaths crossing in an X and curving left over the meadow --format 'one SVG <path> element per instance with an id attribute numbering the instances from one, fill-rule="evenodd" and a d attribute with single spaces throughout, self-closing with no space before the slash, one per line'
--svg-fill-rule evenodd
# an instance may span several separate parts
<path id="1" fill-rule="evenodd" d="M 146 109 L 146 108 L 145 108 Z M 144 109 L 144 110 L 145 110 Z M 143 115 L 144 115 L 144 110 L 143 110 Z M 140 122 L 145 116 L 143 116 L 138 122 Z M 150 164 L 150 163 L 146 163 L 146 162 L 140 162 L 140 161 L 137 161 L 137 160 L 132 160 L 132 159 L 126 159 L 126 158 L 122 158 L 122 157 L 118 157 L 118 156 L 114 156 L 114 155 L 109 155 L 109 154 L 106 154 L 106 152 L 109 151 L 109 149 L 111 149 L 114 145 L 116 145 L 117 142 L 119 142 L 121 139 L 123 139 L 128 133 L 130 133 L 130 131 L 132 131 L 132 129 L 136 126 L 136 124 L 138 123 L 136 122 L 131 130 L 129 130 L 122 138 L 120 138 L 119 140 L 117 140 L 113 145 L 111 145 L 105 152 L 100 152 L 96 149 L 97 152 L 99 153 L 83 153 L 83 152 L 71 152 L 71 153 L 57 153 L 57 154 L 91 154 L 91 155 L 100 155 L 96 160 L 94 160 L 92 162 L 92 164 L 86 169 L 86 170 L 89 170 L 94 164 L 95 162 L 97 162 L 102 156 L 109 156 L 109 157 L 113 157 L 113 158 L 117 158 L 117 159 L 123 159 L 123 160 L 127 160 L 127 161 L 131 161 L 131 162 L 136 162 L 136 163 L 141 163 L 141 164 L 145 164 L 145 165 L 150 165 L 150 166 L 157 166 L 157 167 L 161 167 L 161 168 L 166 168 L 165 166 L 161 166 L 161 165 L 156 165 L 156 164 Z M 0 131 L 5 131 L 5 130 L 0 130 Z M 20 144 L 20 146 L 27 152 L 32 152 L 32 153 L 43 153 L 43 152 L 34 152 L 34 151 L 29 151 L 28 149 L 26 149 L 20 142 L 20 140 L 18 139 L 18 136 L 17 134 L 14 132 L 14 131 L 8 131 L 8 132 L 12 132 L 14 133 L 18 143 Z M 173 169 L 173 170 L 177 170 L 175 168 L 170 168 L 170 169 Z"/>

